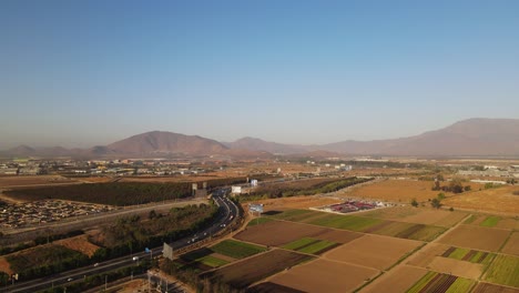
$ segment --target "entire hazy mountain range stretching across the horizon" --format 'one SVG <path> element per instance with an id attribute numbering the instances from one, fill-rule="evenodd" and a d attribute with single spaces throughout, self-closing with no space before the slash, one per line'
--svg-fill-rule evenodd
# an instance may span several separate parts
<path id="1" fill-rule="evenodd" d="M 269 158 L 273 154 L 307 155 L 413 155 L 515 156 L 519 155 L 519 119 L 468 119 L 418 135 L 373 141 L 346 140 L 320 145 L 299 145 L 243 138 L 218 142 L 199 135 L 152 131 L 90 149 L 61 146 L 34 149 L 20 145 L 0 152 L 4 156 L 204 156 Z"/>

